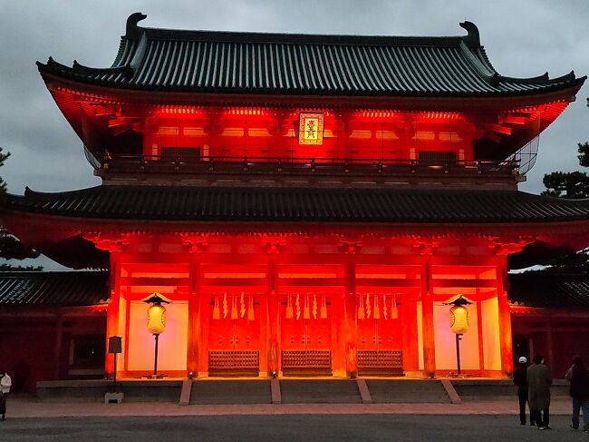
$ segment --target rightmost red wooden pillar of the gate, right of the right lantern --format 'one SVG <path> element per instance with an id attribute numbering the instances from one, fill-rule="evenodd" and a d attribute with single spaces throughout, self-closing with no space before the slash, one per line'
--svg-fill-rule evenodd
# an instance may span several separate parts
<path id="1" fill-rule="evenodd" d="M 513 373 L 513 344 L 511 337 L 511 312 L 507 300 L 507 251 L 497 250 L 497 303 L 499 309 L 499 343 L 503 376 Z"/>

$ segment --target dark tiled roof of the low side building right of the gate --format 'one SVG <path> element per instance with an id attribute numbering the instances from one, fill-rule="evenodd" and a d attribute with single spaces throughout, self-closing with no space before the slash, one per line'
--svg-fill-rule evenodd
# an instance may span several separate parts
<path id="1" fill-rule="evenodd" d="M 526 307 L 589 308 L 589 277 L 546 271 L 510 274 L 509 300 Z"/>

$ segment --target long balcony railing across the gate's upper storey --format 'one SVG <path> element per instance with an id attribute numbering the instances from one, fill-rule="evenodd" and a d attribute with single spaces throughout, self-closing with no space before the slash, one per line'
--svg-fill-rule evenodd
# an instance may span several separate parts
<path id="1" fill-rule="evenodd" d="M 195 175 L 322 175 L 322 176 L 401 176 L 427 175 L 517 175 L 518 163 L 491 161 L 376 160 L 326 158 L 268 158 L 208 156 L 190 159 L 182 156 L 109 155 L 101 174 L 180 173 Z"/>

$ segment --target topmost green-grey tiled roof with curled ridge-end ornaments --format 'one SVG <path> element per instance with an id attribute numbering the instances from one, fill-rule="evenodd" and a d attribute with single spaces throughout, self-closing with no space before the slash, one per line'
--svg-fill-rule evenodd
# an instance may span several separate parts
<path id="1" fill-rule="evenodd" d="M 497 74 L 470 22 L 466 36 L 396 37 L 179 31 L 139 27 L 143 18 L 130 15 L 110 68 L 50 58 L 39 70 L 122 89 L 361 96 L 545 93 L 586 78 Z"/>

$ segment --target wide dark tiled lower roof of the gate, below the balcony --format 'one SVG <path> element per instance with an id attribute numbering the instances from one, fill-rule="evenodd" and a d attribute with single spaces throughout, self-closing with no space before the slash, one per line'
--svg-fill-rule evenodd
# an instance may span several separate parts
<path id="1" fill-rule="evenodd" d="M 158 221 L 498 223 L 589 220 L 589 200 L 517 191 L 97 186 L 27 189 L 5 208 L 63 216 Z"/>

